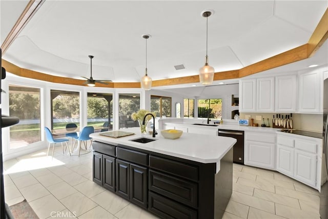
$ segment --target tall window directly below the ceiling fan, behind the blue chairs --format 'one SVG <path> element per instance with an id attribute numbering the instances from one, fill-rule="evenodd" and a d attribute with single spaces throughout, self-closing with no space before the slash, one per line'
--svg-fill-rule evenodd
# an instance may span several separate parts
<path id="1" fill-rule="evenodd" d="M 87 93 L 87 96 L 87 125 L 113 129 L 113 94 Z"/>

